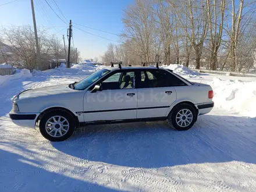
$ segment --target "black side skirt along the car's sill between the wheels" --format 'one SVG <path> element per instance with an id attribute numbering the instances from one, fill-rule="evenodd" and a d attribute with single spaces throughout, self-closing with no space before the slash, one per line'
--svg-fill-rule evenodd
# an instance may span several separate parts
<path id="1" fill-rule="evenodd" d="M 80 122 L 80 127 L 88 125 L 106 125 L 106 124 L 115 124 L 115 123 L 132 123 L 132 122 L 155 122 L 166 120 L 166 117 L 160 118 L 141 118 L 141 119 L 121 119 L 121 120 L 98 120 L 94 122 Z"/>

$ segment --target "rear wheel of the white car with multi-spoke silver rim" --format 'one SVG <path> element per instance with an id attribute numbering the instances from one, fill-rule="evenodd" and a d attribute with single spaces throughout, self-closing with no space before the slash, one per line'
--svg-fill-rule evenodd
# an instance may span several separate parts
<path id="1" fill-rule="evenodd" d="M 189 130 L 197 120 L 197 113 L 190 104 L 179 104 L 175 106 L 168 115 L 170 126 L 178 131 Z"/>

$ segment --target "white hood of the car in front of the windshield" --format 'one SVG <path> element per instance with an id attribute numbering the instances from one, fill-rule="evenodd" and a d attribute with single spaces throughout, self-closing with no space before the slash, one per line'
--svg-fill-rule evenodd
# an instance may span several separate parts
<path id="1" fill-rule="evenodd" d="M 69 88 L 68 84 L 58 85 L 58 86 L 49 86 L 49 87 L 41 87 L 41 88 L 34 88 L 31 90 L 26 90 L 17 95 L 17 99 L 24 99 L 24 98 L 34 98 L 34 97 L 44 97 L 50 95 L 60 95 L 65 93 L 73 93 L 77 90 L 73 90 Z"/>

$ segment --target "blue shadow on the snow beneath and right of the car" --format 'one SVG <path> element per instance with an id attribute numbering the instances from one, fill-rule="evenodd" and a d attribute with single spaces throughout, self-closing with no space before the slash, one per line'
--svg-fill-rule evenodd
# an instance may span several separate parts
<path id="1" fill-rule="evenodd" d="M 256 163 L 256 120 L 204 115 L 188 131 L 167 122 L 88 126 L 57 150 L 89 161 L 121 166 L 161 168 L 189 163 Z"/>

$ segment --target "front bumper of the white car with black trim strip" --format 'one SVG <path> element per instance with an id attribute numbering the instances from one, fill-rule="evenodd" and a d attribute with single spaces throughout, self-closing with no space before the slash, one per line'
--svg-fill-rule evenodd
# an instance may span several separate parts
<path id="1" fill-rule="evenodd" d="M 11 111 L 9 116 L 15 125 L 34 128 L 39 114 L 40 113 L 20 113 Z"/>

